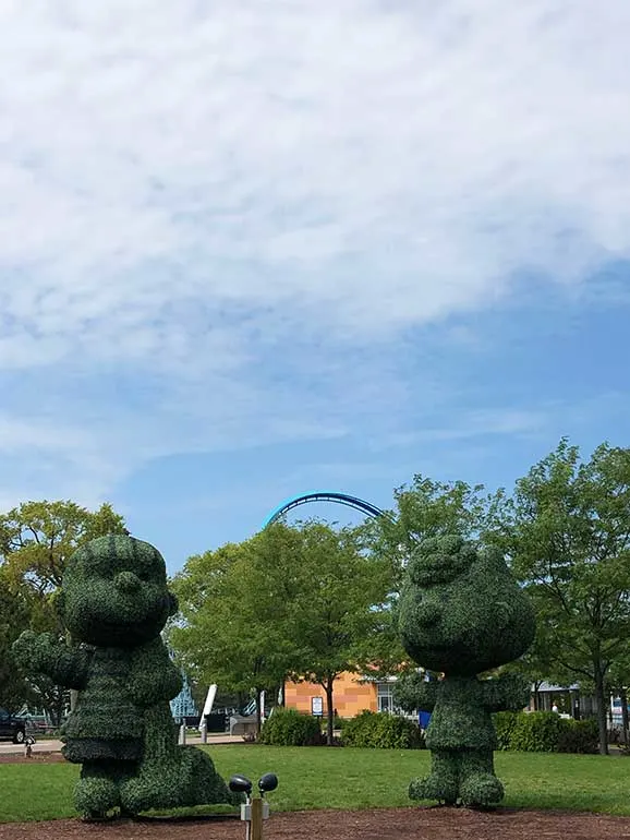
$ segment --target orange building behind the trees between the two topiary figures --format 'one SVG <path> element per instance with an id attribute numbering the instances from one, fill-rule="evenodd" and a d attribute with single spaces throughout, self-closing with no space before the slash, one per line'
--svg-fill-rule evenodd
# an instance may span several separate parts
<path id="1" fill-rule="evenodd" d="M 341 674 L 335 681 L 334 701 L 337 713 L 340 718 L 353 718 L 364 709 L 391 710 L 393 683 L 395 680 L 377 682 L 364 674 Z M 326 692 L 315 683 L 286 683 L 284 706 L 306 715 L 326 715 Z"/>

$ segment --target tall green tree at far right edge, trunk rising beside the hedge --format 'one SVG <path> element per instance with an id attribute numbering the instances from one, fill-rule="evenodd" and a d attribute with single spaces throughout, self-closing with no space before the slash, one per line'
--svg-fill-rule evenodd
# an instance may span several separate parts
<path id="1" fill-rule="evenodd" d="M 602 444 L 584 463 L 565 439 L 504 513 L 499 540 L 535 604 L 541 661 L 594 686 L 606 753 L 607 675 L 630 639 L 630 449 Z"/>

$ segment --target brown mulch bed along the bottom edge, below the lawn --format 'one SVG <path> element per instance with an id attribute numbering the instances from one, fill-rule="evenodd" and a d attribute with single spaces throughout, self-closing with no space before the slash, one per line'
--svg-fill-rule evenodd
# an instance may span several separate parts
<path id="1" fill-rule="evenodd" d="M 234 818 L 118 820 L 85 824 L 11 823 L 0 826 L 1 840 L 243 840 L 245 827 Z M 271 814 L 266 840 L 619 840 L 630 838 L 630 819 L 594 814 L 464 808 L 391 808 L 311 811 Z"/>

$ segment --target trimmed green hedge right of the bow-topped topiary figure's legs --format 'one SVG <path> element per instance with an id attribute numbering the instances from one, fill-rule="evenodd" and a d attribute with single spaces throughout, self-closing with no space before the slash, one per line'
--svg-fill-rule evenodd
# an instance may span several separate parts
<path id="1" fill-rule="evenodd" d="M 525 753 L 596 753 L 597 721 L 560 718 L 553 711 L 499 711 L 498 748 Z"/>

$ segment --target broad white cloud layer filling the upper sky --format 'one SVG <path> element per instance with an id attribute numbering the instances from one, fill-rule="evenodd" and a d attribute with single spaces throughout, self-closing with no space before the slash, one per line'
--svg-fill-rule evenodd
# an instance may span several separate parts
<path id="1" fill-rule="evenodd" d="M 628 255 L 629 38 L 626 0 L 4 2 L 0 371 L 27 386 L 2 451 L 98 492 L 399 407 L 393 377 L 314 398 L 270 360 Z"/>

